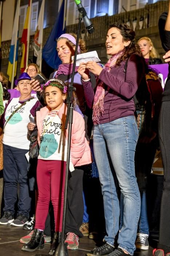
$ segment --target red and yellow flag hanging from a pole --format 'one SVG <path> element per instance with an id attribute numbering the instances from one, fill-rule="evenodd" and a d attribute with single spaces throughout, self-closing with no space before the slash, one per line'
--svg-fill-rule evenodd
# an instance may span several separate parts
<path id="1" fill-rule="evenodd" d="M 25 23 L 24 23 L 23 34 L 21 37 L 21 43 L 22 43 L 22 48 L 23 48 L 21 65 L 20 65 L 21 73 L 23 73 L 26 68 L 26 60 L 27 60 L 27 37 L 28 37 L 29 9 L 30 9 L 30 0 L 29 0 L 27 15 L 26 15 Z"/>

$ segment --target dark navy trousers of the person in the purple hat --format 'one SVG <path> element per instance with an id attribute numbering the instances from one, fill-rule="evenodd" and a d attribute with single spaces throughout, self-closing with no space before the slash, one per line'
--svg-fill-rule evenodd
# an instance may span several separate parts
<path id="1" fill-rule="evenodd" d="M 17 201 L 17 186 L 19 184 L 19 201 L 17 214 L 29 216 L 31 197 L 28 191 L 26 149 L 20 149 L 3 144 L 4 154 L 4 211 L 15 213 Z"/>

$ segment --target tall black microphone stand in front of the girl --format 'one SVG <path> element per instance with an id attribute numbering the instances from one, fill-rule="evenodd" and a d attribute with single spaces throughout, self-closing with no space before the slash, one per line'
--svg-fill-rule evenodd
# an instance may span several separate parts
<path id="1" fill-rule="evenodd" d="M 73 104 L 72 104 L 72 92 L 76 90 L 73 87 L 74 82 L 74 74 L 75 74 L 75 67 L 76 67 L 76 58 L 77 58 L 77 50 L 79 45 L 79 36 L 80 36 L 80 29 L 81 29 L 81 22 L 83 19 L 82 12 L 79 12 L 79 23 L 78 23 L 78 32 L 77 32 L 77 39 L 76 39 L 76 47 L 75 47 L 75 55 L 74 55 L 74 62 L 72 68 L 72 75 L 71 75 L 71 84 L 68 87 L 68 95 L 67 95 L 67 116 L 66 116 L 66 124 L 65 129 L 68 126 L 68 143 L 67 143 L 67 160 L 66 160 L 66 176 L 65 176 L 65 186 L 64 186 L 64 206 L 63 206 L 63 221 L 62 221 L 62 236 L 61 242 L 58 245 L 55 256 L 68 256 L 68 249 L 67 243 L 64 243 L 65 240 L 65 226 L 66 226 L 66 210 L 67 210 L 67 189 L 68 189 L 68 177 L 69 177 L 69 163 L 70 163 L 70 148 L 71 148 L 71 130 L 72 130 L 72 117 L 73 117 Z M 35 256 L 46 256 L 44 254 L 36 254 Z"/>

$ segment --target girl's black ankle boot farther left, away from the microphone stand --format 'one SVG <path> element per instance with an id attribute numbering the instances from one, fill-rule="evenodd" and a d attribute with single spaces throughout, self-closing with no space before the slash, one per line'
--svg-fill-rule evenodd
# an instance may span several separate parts
<path id="1" fill-rule="evenodd" d="M 38 229 L 34 229 L 31 240 L 28 244 L 25 244 L 21 250 L 27 252 L 34 252 L 44 248 L 44 232 Z"/>

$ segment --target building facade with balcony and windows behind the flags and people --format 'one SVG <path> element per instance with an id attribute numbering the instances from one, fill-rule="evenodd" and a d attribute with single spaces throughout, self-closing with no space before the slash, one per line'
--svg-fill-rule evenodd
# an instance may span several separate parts
<path id="1" fill-rule="evenodd" d="M 72 1 L 72 0 L 70 0 Z M 90 0 L 88 0 L 90 1 Z M 131 11 L 124 11 L 120 12 L 114 15 L 107 15 L 107 2 L 111 3 L 110 1 L 114 2 L 114 8 L 112 9 L 113 12 L 118 12 L 119 9 L 119 1 L 123 0 L 98 0 L 98 13 L 101 15 L 97 15 L 94 18 L 91 18 L 91 21 L 94 25 L 95 32 L 93 34 L 88 34 L 84 24 L 82 22 L 81 27 L 81 34 L 80 36 L 86 41 L 88 51 L 96 50 L 98 52 L 99 58 L 102 61 L 102 63 L 107 62 L 107 54 L 105 49 L 105 39 L 106 34 L 108 30 L 108 26 L 117 21 L 117 22 L 123 22 L 131 26 L 135 32 L 136 32 L 136 39 L 143 36 L 150 37 L 151 40 L 154 43 L 155 48 L 158 50 L 160 56 L 164 54 L 164 50 L 161 46 L 161 41 L 159 39 L 159 31 L 158 31 L 158 19 L 160 14 L 163 11 L 168 10 L 168 4 L 169 1 L 157 1 L 156 3 L 153 3 L 154 0 L 147 1 L 147 4 L 143 5 L 143 8 L 131 10 Z M 127 0 L 126 2 L 128 2 Z M 136 2 L 142 1 L 142 0 L 136 0 Z M 143 0 L 145 1 L 145 0 Z M 37 2 L 36 0 L 32 0 L 32 2 Z M 39 7 L 41 5 L 41 0 L 39 2 Z M 55 5 L 54 5 L 55 2 Z M 95 1 L 94 1 L 95 2 Z M 91 4 L 94 2 L 90 2 Z M 103 5 L 102 5 L 103 2 Z M 21 0 L 21 5 L 25 5 L 28 3 L 28 0 Z M 60 6 L 61 0 L 47 0 L 45 5 L 45 12 L 44 12 L 44 20 L 45 20 L 45 28 L 44 28 L 44 34 L 43 34 L 43 44 L 46 43 L 47 38 L 51 32 L 52 25 L 55 22 L 58 9 Z M 121 2 L 122 3 L 122 2 Z M 142 2 L 140 2 L 142 3 Z M 16 5 L 16 4 L 15 4 Z M 76 6 L 75 6 L 76 8 Z M 85 7 L 86 8 L 86 7 Z M 95 6 L 96 8 L 96 6 Z M 67 8 L 70 10 L 69 8 Z M 89 17 L 93 16 L 92 10 L 94 8 L 91 8 L 91 12 Z M 125 9 L 126 10 L 126 9 Z M 102 14 L 105 14 L 102 16 Z M 76 14 L 77 15 L 77 14 Z M 76 19 L 76 22 L 78 20 Z M 68 25 L 66 26 L 66 32 L 67 33 L 77 33 L 78 23 Z M 1 71 L 5 74 L 7 73 L 8 68 L 8 56 L 9 56 L 9 48 L 10 48 L 11 40 L 2 41 L 1 43 Z M 18 61 L 18 67 L 20 66 L 20 58 L 21 58 L 21 44 L 19 39 L 19 61 Z M 33 35 L 30 36 L 30 45 L 29 45 L 29 62 L 32 61 L 33 58 Z M 19 74 L 19 68 L 18 68 L 18 74 Z"/>

